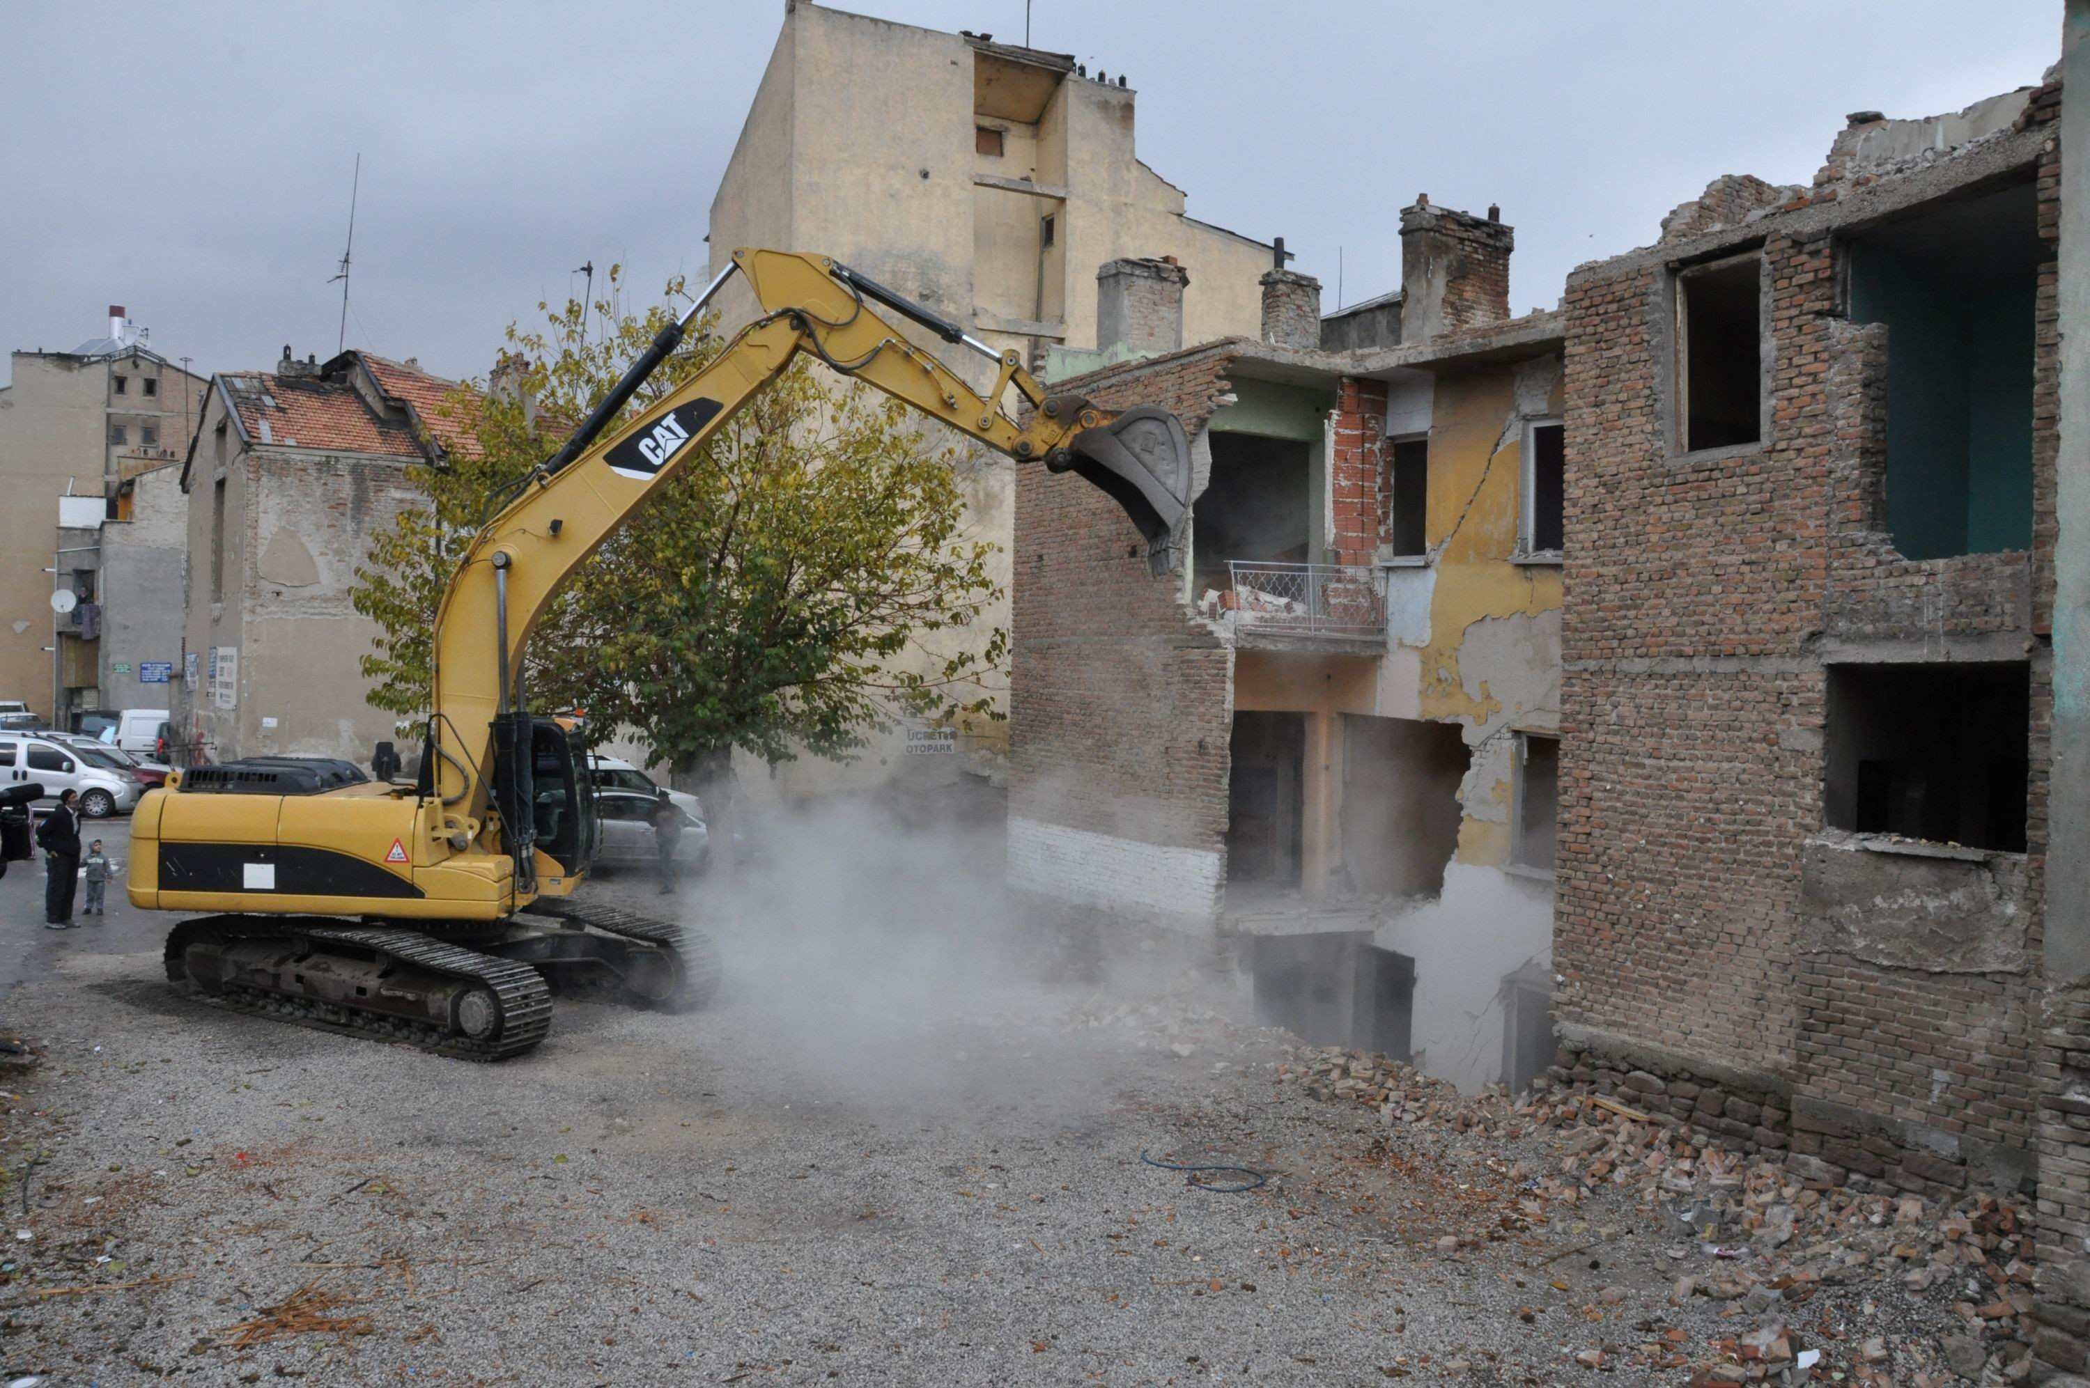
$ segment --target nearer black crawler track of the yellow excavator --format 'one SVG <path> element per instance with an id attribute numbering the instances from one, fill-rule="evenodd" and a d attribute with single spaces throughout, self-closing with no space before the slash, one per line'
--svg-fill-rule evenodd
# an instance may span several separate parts
<path id="1" fill-rule="evenodd" d="M 451 1012 L 449 1024 L 437 1024 L 362 1008 L 343 997 L 272 991 L 251 978 L 205 982 L 194 976 L 190 962 L 190 949 L 222 955 L 238 947 L 274 947 L 286 955 L 305 951 L 324 959 L 330 945 L 351 951 L 362 966 L 397 962 L 418 976 L 470 995 L 477 1035 L 456 1020 L 464 1016 L 462 1008 Z M 362 959 L 364 953 L 372 959 Z M 165 966 L 171 982 L 188 985 L 199 1001 L 226 1012 L 247 1012 L 370 1041 L 403 1041 L 458 1060 L 508 1060 L 535 1047 L 552 1028 L 552 991 L 535 968 L 449 945 L 418 930 L 349 926 L 324 918 L 301 924 L 280 916 L 205 916 L 184 920 L 167 932 Z"/>

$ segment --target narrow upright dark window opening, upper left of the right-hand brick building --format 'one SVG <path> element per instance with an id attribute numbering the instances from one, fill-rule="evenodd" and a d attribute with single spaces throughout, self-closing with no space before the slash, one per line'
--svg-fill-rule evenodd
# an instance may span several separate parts
<path id="1" fill-rule="evenodd" d="M 1760 257 L 1676 276 L 1676 406 L 1685 452 L 1764 437 Z"/>

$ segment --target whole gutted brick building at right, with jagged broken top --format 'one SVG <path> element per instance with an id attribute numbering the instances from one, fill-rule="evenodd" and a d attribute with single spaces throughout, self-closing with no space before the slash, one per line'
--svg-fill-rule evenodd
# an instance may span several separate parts
<path id="1" fill-rule="evenodd" d="M 2036 1164 L 2054 109 L 1858 113 L 1561 307 L 1565 1072 L 1825 1177 Z"/>

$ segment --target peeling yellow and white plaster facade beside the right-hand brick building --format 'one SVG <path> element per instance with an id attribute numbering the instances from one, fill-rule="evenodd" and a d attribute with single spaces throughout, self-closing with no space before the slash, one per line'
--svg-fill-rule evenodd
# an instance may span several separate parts
<path id="1" fill-rule="evenodd" d="M 1559 730 L 1559 564 L 1519 560 L 1519 516 L 1526 426 L 1559 418 L 1561 362 L 1453 362 L 1419 385 L 1390 393 L 1384 433 L 1427 437 L 1427 560 L 1386 569 L 1384 654 L 1241 650 L 1235 709 L 1306 715 L 1302 895 L 1342 928 L 1365 905 L 1373 943 L 1415 962 L 1415 1062 L 1478 1087 L 1503 1079 L 1509 978 L 1551 962 L 1551 872 L 1511 859 L 1519 734 Z M 1375 506 L 1384 523 L 1388 485 Z M 1457 803 L 1411 799 L 1402 765 L 1361 767 L 1381 753 L 1356 719 L 1455 727 Z M 1365 794 L 1388 796 L 1392 819 Z M 1419 822 L 1438 813 L 1455 834 Z M 1373 899 L 1375 857 L 1446 845 L 1438 890 Z"/>

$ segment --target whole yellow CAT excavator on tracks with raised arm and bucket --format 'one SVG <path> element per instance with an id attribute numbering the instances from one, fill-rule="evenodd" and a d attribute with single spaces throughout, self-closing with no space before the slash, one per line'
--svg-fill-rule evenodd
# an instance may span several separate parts
<path id="1" fill-rule="evenodd" d="M 761 305 L 704 370 L 619 422 L 734 274 Z M 982 397 L 872 305 L 995 362 Z M 525 704 L 522 650 L 560 583 L 800 353 L 1018 464 L 1076 472 L 1147 539 L 1156 573 L 1187 514 L 1189 447 L 1166 410 L 1047 393 L 1016 351 L 819 255 L 736 251 L 573 437 L 497 498 L 435 619 L 420 780 L 257 757 L 167 778 L 132 822 L 130 901 L 209 911 L 167 934 L 167 978 L 238 1012 L 443 1056 L 500 1060 L 552 1022 L 552 982 L 652 1008 L 719 987 L 700 932 L 575 899 L 596 845 L 585 753 Z M 1014 387 L 1028 410 L 1003 412 Z"/>

